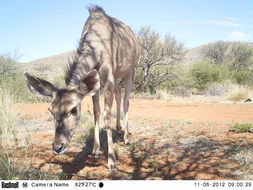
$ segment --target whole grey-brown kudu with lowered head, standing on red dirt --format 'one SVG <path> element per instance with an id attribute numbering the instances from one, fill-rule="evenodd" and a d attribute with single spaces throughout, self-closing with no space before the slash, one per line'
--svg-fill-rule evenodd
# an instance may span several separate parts
<path id="1" fill-rule="evenodd" d="M 121 21 L 108 16 L 98 6 L 89 7 L 89 17 L 84 25 L 79 46 L 65 71 L 66 87 L 58 88 L 46 80 L 25 73 L 28 86 L 44 96 L 52 97 L 49 111 L 54 116 L 56 154 L 66 151 L 80 119 L 81 101 L 92 96 L 94 111 L 94 145 L 92 153 L 100 152 L 99 141 L 99 90 L 104 84 L 104 124 L 108 140 L 108 168 L 115 169 L 112 140 L 111 108 L 113 97 L 117 103 L 116 129 L 121 130 L 121 93 L 119 82 L 124 81 L 124 142 L 129 143 L 129 96 L 134 84 L 135 66 L 140 57 L 140 47 L 132 30 Z"/>

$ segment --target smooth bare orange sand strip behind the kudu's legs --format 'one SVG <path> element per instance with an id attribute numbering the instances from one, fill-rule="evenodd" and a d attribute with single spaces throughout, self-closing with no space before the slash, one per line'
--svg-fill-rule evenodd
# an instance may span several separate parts
<path id="1" fill-rule="evenodd" d="M 101 101 L 103 106 L 103 101 Z M 21 110 L 29 118 L 36 118 L 47 112 L 50 104 L 20 104 Z M 83 109 L 92 111 L 92 102 L 86 98 Z M 115 106 L 114 106 L 115 107 Z M 251 104 L 224 103 L 171 103 L 161 100 L 131 99 L 130 118 L 178 119 L 213 122 L 253 121 Z"/>

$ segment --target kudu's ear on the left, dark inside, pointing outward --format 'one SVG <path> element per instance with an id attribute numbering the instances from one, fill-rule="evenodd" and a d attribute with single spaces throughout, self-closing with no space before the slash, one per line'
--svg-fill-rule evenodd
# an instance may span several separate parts
<path id="1" fill-rule="evenodd" d="M 46 80 L 32 76 L 29 73 L 24 73 L 24 75 L 27 79 L 27 85 L 30 90 L 32 86 L 41 95 L 53 97 L 53 92 L 56 90 L 54 85 L 52 85 L 50 82 L 47 82 Z"/>

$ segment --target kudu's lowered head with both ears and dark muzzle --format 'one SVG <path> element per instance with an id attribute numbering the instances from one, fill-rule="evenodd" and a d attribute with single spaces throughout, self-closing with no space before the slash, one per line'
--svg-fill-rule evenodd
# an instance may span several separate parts
<path id="1" fill-rule="evenodd" d="M 99 74 L 96 70 L 88 72 L 76 86 L 58 88 L 50 82 L 25 73 L 28 87 L 33 87 L 43 96 L 52 98 L 48 110 L 55 123 L 55 137 L 52 144 L 56 154 L 67 150 L 80 119 L 81 101 L 86 95 L 94 95 L 100 88 Z"/>

